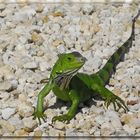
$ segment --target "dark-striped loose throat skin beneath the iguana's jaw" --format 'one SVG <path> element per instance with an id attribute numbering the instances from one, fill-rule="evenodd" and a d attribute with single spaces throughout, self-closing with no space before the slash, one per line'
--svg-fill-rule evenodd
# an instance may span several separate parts
<path id="1" fill-rule="evenodd" d="M 70 83 L 70 80 L 74 75 L 76 75 L 78 70 L 79 68 L 58 74 L 54 78 L 55 83 L 60 87 L 60 89 L 66 89 Z"/>

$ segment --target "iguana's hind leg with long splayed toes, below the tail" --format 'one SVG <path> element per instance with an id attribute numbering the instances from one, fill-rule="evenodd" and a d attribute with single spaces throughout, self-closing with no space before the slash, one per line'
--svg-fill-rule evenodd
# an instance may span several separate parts
<path id="1" fill-rule="evenodd" d="M 120 97 L 113 94 L 107 88 L 99 86 L 97 84 L 94 84 L 91 87 L 94 91 L 98 92 L 103 97 L 107 108 L 112 103 L 115 111 L 118 111 L 120 108 L 123 108 L 125 112 L 128 111 L 128 108 L 125 105 L 124 101 Z M 116 105 L 118 106 L 118 109 L 116 108 Z"/>

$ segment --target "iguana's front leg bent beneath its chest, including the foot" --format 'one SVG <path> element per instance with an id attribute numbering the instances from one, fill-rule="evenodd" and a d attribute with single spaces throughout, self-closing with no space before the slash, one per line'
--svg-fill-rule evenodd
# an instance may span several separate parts
<path id="1" fill-rule="evenodd" d="M 79 100 L 79 97 L 77 96 L 77 92 L 75 90 L 71 90 L 69 92 L 69 97 L 71 99 L 72 105 L 71 105 L 68 113 L 64 114 L 64 115 L 53 117 L 52 122 L 55 122 L 58 120 L 58 121 L 69 123 L 69 121 L 75 116 L 80 100 Z"/>

